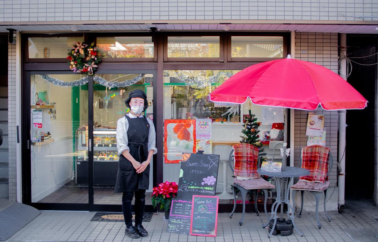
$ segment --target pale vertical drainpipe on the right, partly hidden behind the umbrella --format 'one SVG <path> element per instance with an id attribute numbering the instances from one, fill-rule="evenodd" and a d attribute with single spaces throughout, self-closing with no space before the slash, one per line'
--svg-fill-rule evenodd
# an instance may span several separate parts
<path id="1" fill-rule="evenodd" d="M 340 56 L 347 54 L 347 35 L 340 34 Z M 346 80 L 347 75 L 347 62 L 345 59 L 341 60 L 339 66 L 339 75 Z M 338 187 L 339 187 L 339 197 L 338 197 L 338 208 L 344 207 L 345 204 L 345 127 L 346 127 L 346 110 L 339 111 L 339 133 L 338 133 L 338 160 L 341 171 L 338 173 Z"/>

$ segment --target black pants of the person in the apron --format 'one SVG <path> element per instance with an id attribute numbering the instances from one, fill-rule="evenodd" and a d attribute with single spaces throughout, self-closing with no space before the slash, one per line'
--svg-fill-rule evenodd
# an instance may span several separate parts
<path id="1" fill-rule="evenodd" d="M 143 220 L 143 213 L 144 213 L 144 205 L 146 200 L 146 190 L 139 189 L 138 191 L 125 191 L 122 194 L 122 211 L 123 216 L 125 218 L 125 224 L 127 228 L 132 226 L 132 208 L 131 208 L 131 201 L 133 200 L 133 196 L 135 193 L 135 227 L 139 224 L 142 224 Z"/>

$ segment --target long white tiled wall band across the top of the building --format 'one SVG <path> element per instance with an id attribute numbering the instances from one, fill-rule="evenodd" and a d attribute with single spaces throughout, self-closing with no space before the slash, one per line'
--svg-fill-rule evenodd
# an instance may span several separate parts
<path id="1" fill-rule="evenodd" d="M 80 20 L 377 21 L 376 0 L 0 0 L 0 22 Z"/>

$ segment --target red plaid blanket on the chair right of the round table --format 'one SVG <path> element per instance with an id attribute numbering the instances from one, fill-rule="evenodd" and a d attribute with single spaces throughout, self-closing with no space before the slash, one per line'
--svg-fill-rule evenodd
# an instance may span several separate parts
<path id="1" fill-rule="evenodd" d="M 330 149 L 322 145 L 310 145 L 302 148 L 302 168 L 310 171 L 307 176 L 299 180 L 307 182 L 321 182 L 328 180 L 328 156 Z"/>

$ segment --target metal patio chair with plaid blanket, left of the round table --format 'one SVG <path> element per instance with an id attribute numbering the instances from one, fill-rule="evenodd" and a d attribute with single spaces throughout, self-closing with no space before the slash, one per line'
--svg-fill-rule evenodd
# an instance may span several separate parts
<path id="1" fill-rule="evenodd" d="M 257 168 L 260 167 L 259 149 L 256 146 L 240 143 L 232 146 L 232 151 L 229 155 L 229 165 L 232 173 L 234 174 L 234 184 L 232 190 L 234 194 L 234 208 L 229 214 L 232 217 L 236 209 L 236 188 L 240 190 L 242 194 L 242 218 L 239 221 L 239 225 L 242 226 L 245 215 L 245 197 L 249 191 L 254 192 L 254 203 L 256 215 L 259 216 L 259 210 L 257 210 L 257 190 L 262 190 L 265 195 L 264 210 L 266 212 L 266 200 L 268 199 L 268 189 L 275 188 L 273 184 L 262 179 L 257 173 Z M 236 155 L 235 155 L 236 154 Z M 236 158 L 235 158 L 236 157 Z M 235 169 L 232 166 L 235 166 Z M 236 171 L 235 171 L 236 170 Z"/>

